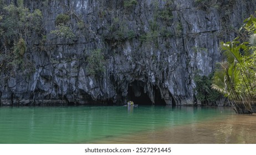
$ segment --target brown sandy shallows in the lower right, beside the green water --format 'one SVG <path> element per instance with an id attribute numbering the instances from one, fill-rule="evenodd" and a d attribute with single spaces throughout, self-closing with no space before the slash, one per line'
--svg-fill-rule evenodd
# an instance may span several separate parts
<path id="1" fill-rule="evenodd" d="M 240 116 L 244 117 L 241 118 Z M 152 131 L 142 131 L 134 135 L 96 140 L 93 143 L 254 144 L 256 143 L 256 133 L 249 128 L 252 128 L 252 126 L 256 128 L 256 120 L 254 116 L 253 118 L 250 116 L 252 115 L 231 115 L 227 117 L 227 120 L 212 120 L 209 122 L 159 128 L 153 133 Z M 238 120 L 242 121 L 242 123 Z M 250 134 L 247 134 L 247 132 Z"/>

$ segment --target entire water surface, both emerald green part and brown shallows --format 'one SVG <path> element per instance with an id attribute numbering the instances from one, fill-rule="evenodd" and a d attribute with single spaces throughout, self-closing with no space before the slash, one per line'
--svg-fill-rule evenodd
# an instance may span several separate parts
<path id="1" fill-rule="evenodd" d="M 231 108 L 0 107 L 0 143 L 255 143 Z"/>

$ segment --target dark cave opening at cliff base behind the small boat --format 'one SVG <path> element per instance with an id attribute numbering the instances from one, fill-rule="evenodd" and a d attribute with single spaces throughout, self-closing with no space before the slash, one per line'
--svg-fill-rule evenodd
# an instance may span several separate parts
<path id="1" fill-rule="evenodd" d="M 149 95 L 144 93 L 142 82 L 132 82 L 128 87 L 128 95 L 127 99 L 134 101 L 134 104 L 138 105 L 153 105 L 153 102 L 150 100 Z M 160 90 L 157 87 L 153 87 L 153 91 L 155 92 L 155 105 L 166 105 L 165 100 L 162 99 Z"/>

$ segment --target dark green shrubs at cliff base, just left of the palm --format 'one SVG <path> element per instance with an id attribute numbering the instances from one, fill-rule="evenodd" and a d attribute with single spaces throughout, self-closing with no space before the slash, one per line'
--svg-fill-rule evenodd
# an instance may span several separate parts
<path id="1" fill-rule="evenodd" d="M 202 102 L 202 105 L 215 105 L 215 102 L 223 97 L 217 90 L 212 89 L 212 77 L 213 74 L 209 76 L 196 74 L 194 76 L 196 98 Z"/>

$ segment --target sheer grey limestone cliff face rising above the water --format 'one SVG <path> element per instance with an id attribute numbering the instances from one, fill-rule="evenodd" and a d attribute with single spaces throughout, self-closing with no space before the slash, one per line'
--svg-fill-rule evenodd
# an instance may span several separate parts
<path id="1" fill-rule="evenodd" d="M 219 42 L 233 39 L 232 30 L 256 5 L 228 0 L 208 6 L 193 0 L 126 2 L 132 1 L 24 1 L 29 9 L 42 11 L 47 41 L 43 50 L 34 44 L 26 51 L 33 73 L 1 73 L 2 104 L 122 105 L 144 99 L 149 104 L 193 104 L 194 74 L 212 73 L 221 60 Z M 75 38 L 50 33 L 60 13 L 70 16 L 68 27 Z M 87 60 L 95 49 L 103 51 L 105 68 L 90 75 Z"/>

